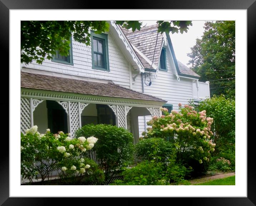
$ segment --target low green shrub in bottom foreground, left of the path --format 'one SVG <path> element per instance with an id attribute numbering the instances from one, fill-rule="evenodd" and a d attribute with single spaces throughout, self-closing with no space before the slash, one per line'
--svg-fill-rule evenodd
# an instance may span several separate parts
<path id="1" fill-rule="evenodd" d="M 124 179 L 117 180 L 112 185 L 164 185 L 166 181 L 162 169 L 161 162 L 143 161 L 131 169 L 126 168 L 122 172 Z"/>

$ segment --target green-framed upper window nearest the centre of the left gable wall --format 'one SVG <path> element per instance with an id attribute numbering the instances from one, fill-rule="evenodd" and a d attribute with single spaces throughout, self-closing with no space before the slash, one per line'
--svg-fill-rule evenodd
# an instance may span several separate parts
<path id="1" fill-rule="evenodd" d="M 108 35 L 95 34 L 91 32 L 92 36 L 92 68 L 109 71 L 108 58 Z"/>

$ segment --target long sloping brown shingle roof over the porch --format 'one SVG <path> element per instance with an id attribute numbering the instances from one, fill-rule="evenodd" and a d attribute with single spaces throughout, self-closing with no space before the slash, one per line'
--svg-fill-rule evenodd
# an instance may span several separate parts
<path id="1" fill-rule="evenodd" d="M 71 92 L 85 95 L 166 102 L 160 98 L 126 89 L 114 83 L 83 81 L 41 74 L 31 74 L 28 72 L 21 72 L 21 87 L 29 89 Z"/>

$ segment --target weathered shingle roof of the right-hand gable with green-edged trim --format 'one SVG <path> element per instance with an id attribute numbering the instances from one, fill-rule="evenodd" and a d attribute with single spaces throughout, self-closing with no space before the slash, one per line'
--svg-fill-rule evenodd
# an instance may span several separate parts
<path id="1" fill-rule="evenodd" d="M 163 42 L 163 34 L 157 32 L 157 27 L 158 24 L 145 26 L 142 27 L 140 31 L 136 30 L 134 32 L 122 28 L 129 42 L 139 51 L 141 51 L 149 60 L 153 61 L 155 65 L 158 65 L 161 54 L 161 45 Z M 180 61 L 177 61 L 175 53 L 173 51 L 171 38 L 169 37 L 169 35 L 166 36 L 169 46 L 171 48 L 174 64 L 177 67 L 178 75 L 184 77 L 200 77 L 198 74 L 182 64 Z M 156 51 L 154 53 L 155 48 Z M 136 54 L 145 68 L 151 68 L 151 64 L 149 64 L 149 62 L 147 62 L 142 55 L 138 54 L 138 52 L 136 52 Z"/>

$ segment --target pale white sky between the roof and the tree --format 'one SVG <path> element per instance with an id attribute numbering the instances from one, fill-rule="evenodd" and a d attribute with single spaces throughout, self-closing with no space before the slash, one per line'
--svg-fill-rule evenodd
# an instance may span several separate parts
<path id="1" fill-rule="evenodd" d="M 142 26 L 146 24 L 147 26 L 154 25 L 156 24 L 156 21 L 143 21 Z M 170 32 L 170 37 L 176 58 L 184 65 L 187 65 L 188 61 L 190 60 L 190 57 L 187 56 L 187 53 L 191 52 L 190 48 L 196 44 L 197 38 L 202 39 L 201 36 L 203 35 L 203 31 L 205 31 L 205 29 L 203 28 L 205 21 L 192 21 L 192 24 L 192 26 L 188 27 L 189 29 L 187 33 L 183 32 L 183 34 L 172 34 Z M 190 65 L 187 66 L 190 67 Z"/>

